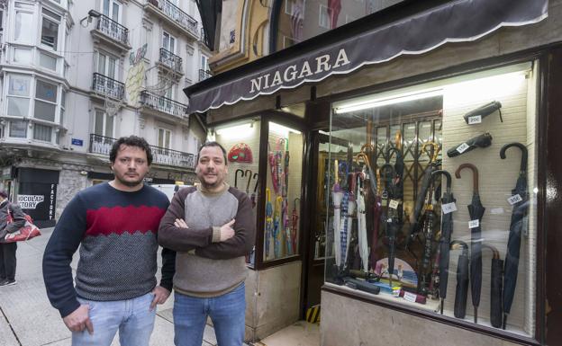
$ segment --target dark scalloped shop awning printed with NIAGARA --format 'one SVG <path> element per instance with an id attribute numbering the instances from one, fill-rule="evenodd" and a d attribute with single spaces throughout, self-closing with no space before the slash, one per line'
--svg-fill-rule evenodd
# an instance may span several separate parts
<path id="1" fill-rule="evenodd" d="M 548 0 L 457 0 L 376 28 L 369 23 L 370 29 L 358 33 L 348 24 L 333 30 L 338 31 L 338 39 L 327 44 L 309 44 L 322 40 L 321 35 L 187 87 L 187 111 L 204 112 L 320 82 L 330 75 L 349 74 L 404 54 L 425 53 L 447 42 L 478 40 L 503 26 L 540 22 L 547 13 Z M 342 37 L 345 31 L 351 34 Z M 330 31 L 328 34 L 337 37 Z"/>

